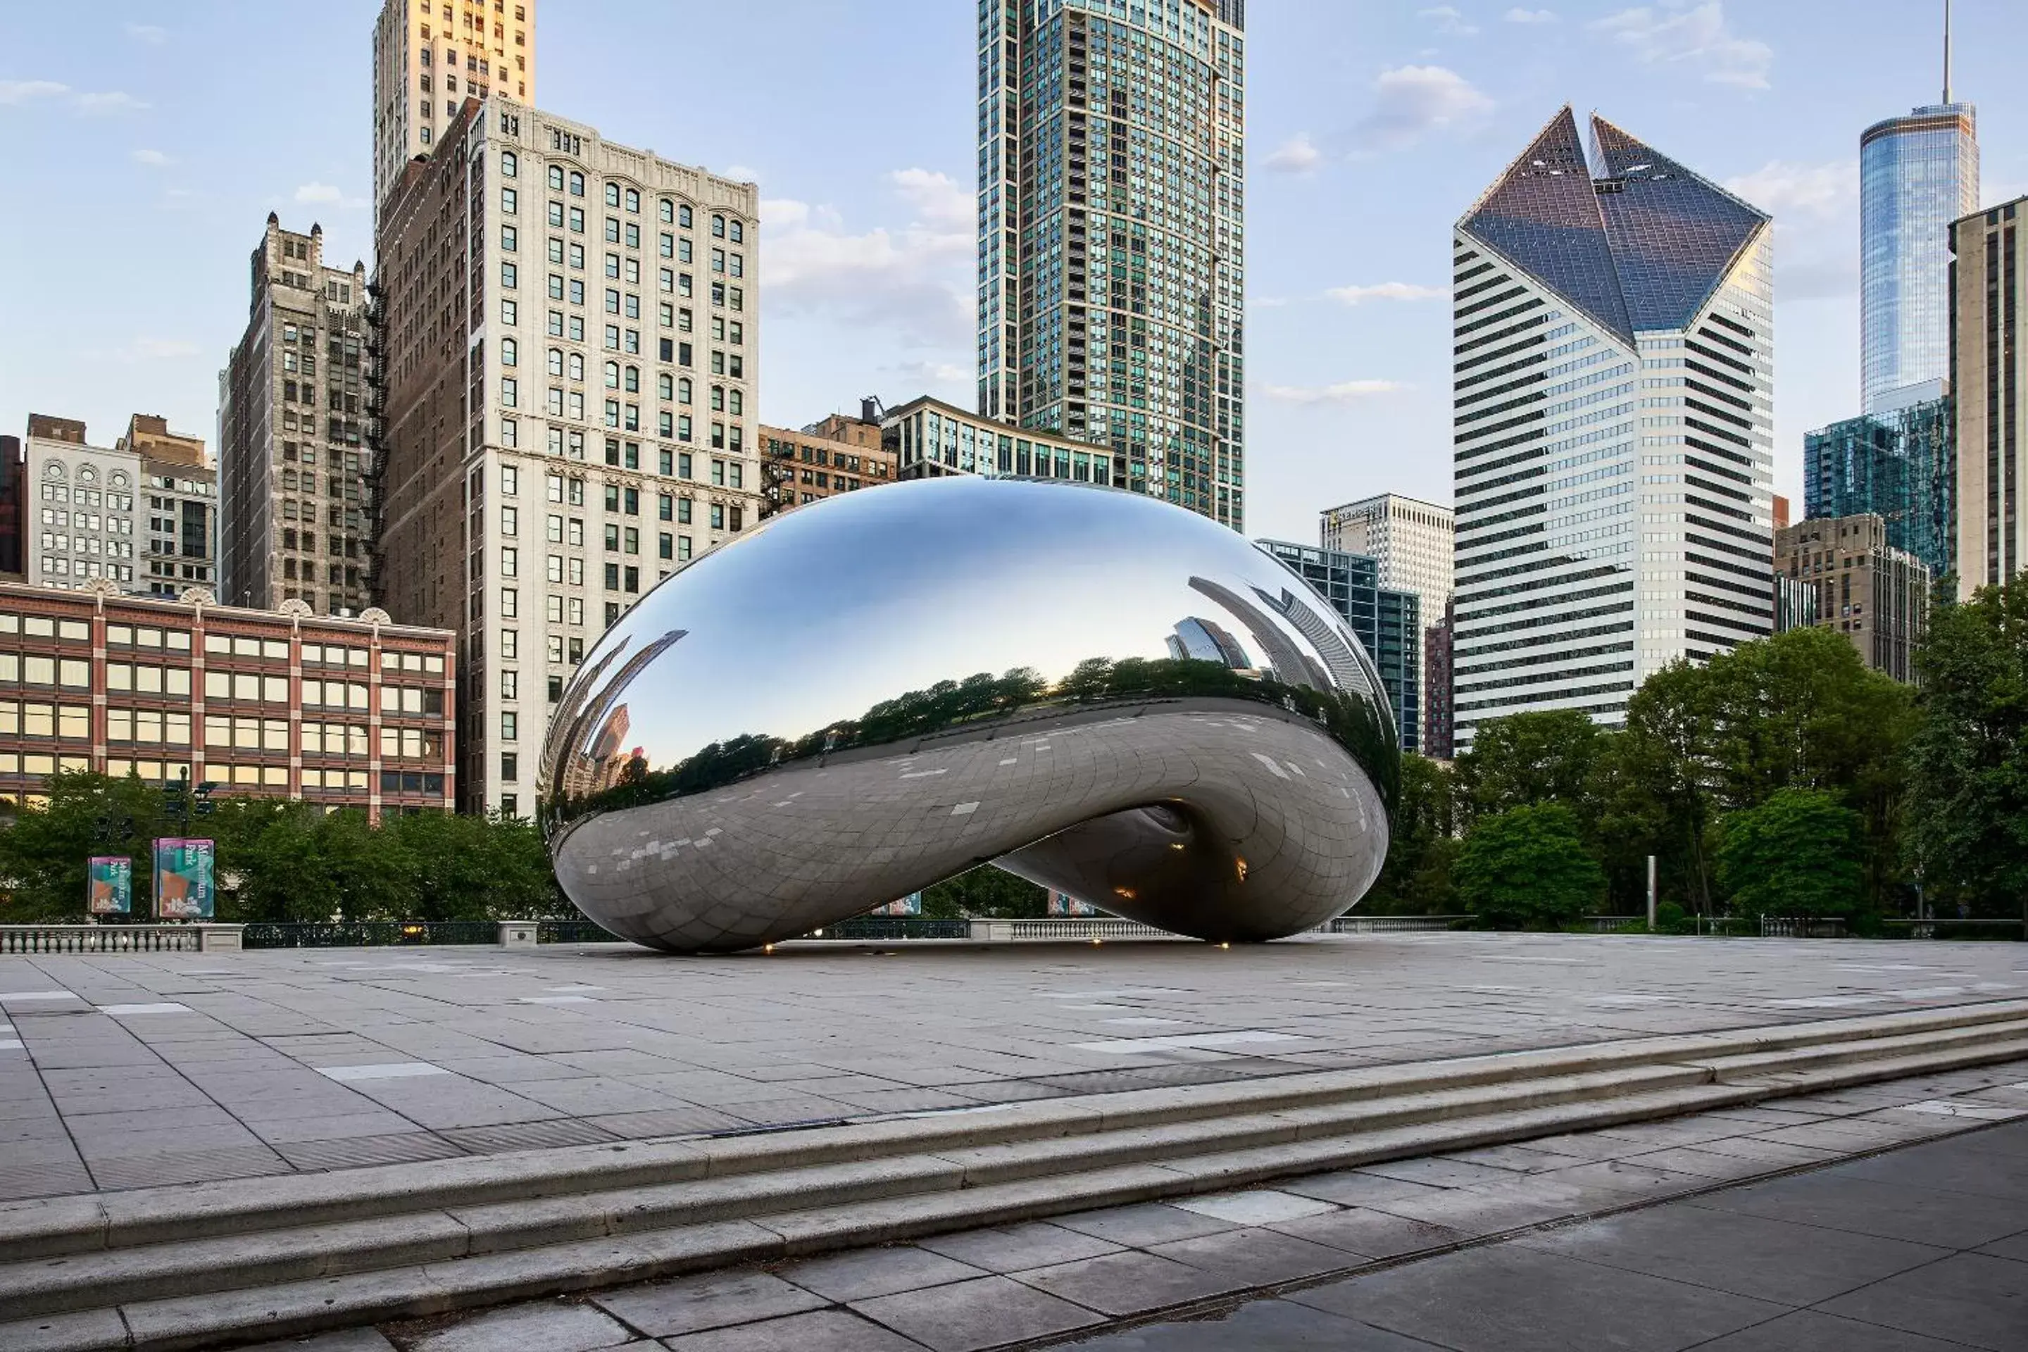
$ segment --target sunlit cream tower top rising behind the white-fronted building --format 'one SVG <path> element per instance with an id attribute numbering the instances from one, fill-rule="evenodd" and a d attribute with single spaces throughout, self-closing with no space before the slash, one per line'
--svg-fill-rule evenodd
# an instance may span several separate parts
<path id="1" fill-rule="evenodd" d="M 373 207 L 468 97 L 535 101 L 535 0 L 383 0 L 373 22 Z"/>

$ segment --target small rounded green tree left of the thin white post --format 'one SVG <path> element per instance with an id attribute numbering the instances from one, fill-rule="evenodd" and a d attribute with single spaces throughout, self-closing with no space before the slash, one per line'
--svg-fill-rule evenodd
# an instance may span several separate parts
<path id="1" fill-rule="evenodd" d="M 1484 817 L 1452 868 L 1464 908 L 1497 928 L 1545 928 L 1598 904 L 1606 876 L 1562 803 Z"/>

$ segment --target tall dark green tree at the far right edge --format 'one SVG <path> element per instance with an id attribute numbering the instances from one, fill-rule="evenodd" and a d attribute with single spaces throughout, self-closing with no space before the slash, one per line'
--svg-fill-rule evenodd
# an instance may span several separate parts
<path id="1" fill-rule="evenodd" d="M 2028 578 L 1933 608 L 1916 667 L 1904 857 L 1939 902 L 2028 918 Z"/>

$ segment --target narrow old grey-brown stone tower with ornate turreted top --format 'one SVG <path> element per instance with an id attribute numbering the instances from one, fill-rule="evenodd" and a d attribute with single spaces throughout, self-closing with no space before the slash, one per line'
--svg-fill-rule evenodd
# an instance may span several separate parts
<path id="1" fill-rule="evenodd" d="M 219 373 L 219 594 L 357 614 L 367 596 L 367 270 L 324 266 L 324 231 L 254 249 L 247 326 Z"/>

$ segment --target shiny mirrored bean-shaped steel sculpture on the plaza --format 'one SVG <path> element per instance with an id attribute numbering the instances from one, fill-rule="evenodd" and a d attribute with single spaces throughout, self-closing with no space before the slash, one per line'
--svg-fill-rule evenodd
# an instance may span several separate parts
<path id="1" fill-rule="evenodd" d="M 775 517 L 645 596 L 552 718 L 541 813 L 570 900 L 673 953 L 988 861 L 1265 941 L 1373 884 L 1397 746 L 1359 639 L 1233 531 L 935 478 Z"/>

